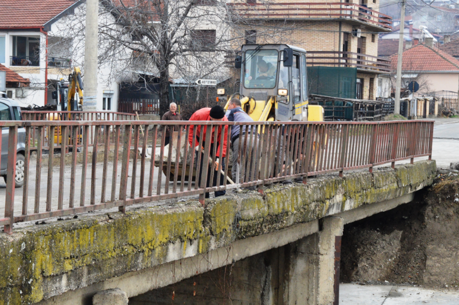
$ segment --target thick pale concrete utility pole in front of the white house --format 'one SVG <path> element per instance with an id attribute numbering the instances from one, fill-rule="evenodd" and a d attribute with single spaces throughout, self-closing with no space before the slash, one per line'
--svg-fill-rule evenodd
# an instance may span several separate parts
<path id="1" fill-rule="evenodd" d="M 85 74 L 83 110 L 97 110 L 97 33 L 99 0 L 86 1 Z"/>

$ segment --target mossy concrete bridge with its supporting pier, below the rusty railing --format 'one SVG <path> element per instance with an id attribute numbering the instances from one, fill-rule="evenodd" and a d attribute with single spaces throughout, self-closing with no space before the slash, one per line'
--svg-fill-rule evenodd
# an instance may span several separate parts
<path id="1" fill-rule="evenodd" d="M 338 304 L 343 225 L 412 201 L 435 170 L 419 161 L 15 227 L 0 235 L 0 304 L 89 305 L 98 292 L 95 304 L 145 304 L 136 296 L 226 265 L 251 280 L 237 303 Z"/>

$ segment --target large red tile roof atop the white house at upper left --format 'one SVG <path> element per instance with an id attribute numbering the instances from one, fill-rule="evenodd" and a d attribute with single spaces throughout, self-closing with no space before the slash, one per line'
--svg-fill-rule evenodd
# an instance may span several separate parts
<path id="1" fill-rule="evenodd" d="M 0 28 L 40 28 L 74 3 L 73 0 L 1 0 Z"/>

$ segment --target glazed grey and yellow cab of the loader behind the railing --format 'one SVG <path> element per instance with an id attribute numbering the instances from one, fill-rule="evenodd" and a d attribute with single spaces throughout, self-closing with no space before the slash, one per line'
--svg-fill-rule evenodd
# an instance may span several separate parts
<path id="1" fill-rule="evenodd" d="M 306 51 L 286 44 L 243 45 L 240 97 L 255 121 L 308 121 Z M 241 100 L 243 101 L 243 100 Z"/>

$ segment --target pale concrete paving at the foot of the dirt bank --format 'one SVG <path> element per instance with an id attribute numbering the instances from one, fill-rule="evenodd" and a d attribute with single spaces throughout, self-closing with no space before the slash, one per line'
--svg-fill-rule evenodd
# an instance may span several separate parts
<path id="1" fill-rule="evenodd" d="M 340 305 L 459 304 L 459 291 L 413 286 L 340 284 Z"/>

